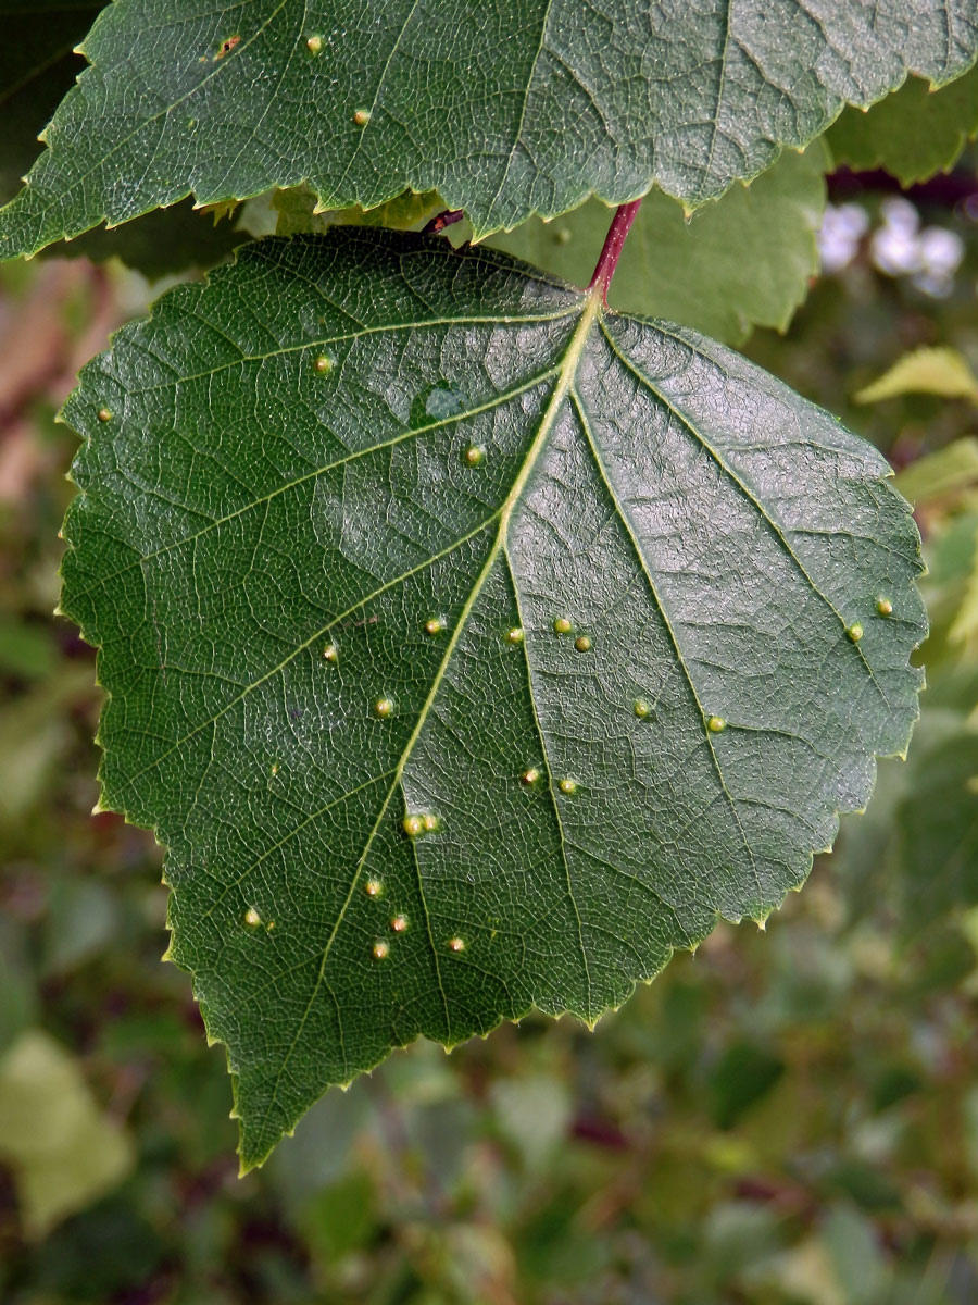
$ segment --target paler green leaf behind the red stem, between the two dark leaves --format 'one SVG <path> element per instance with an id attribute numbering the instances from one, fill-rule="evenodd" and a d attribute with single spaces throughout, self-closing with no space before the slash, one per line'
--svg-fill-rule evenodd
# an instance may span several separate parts
<path id="1" fill-rule="evenodd" d="M 784 154 L 752 185 L 735 185 L 689 221 L 661 191 L 647 194 L 609 303 L 732 345 L 742 343 L 752 326 L 784 330 L 819 270 L 827 162 L 818 144 L 803 155 Z M 609 219 L 608 207 L 592 200 L 556 222 L 531 218 L 490 244 L 584 286 Z"/>

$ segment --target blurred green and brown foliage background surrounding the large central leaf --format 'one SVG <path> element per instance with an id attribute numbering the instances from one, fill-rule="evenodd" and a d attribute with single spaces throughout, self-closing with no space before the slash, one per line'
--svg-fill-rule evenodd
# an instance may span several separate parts
<path id="1" fill-rule="evenodd" d="M 160 287 L 83 258 L 1 270 L 0 1300 L 978 1300 L 974 170 L 914 202 L 837 185 L 824 275 L 747 346 L 917 502 L 934 633 L 910 760 L 765 936 L 721 925 L 595 1034 L 529 1018 L 395 1053 L 243 1181 L 223 1051 L 160 963 L 160 853 L 91 816 L 94 656 L 51 615 L 76 444 L 55 414 Z M 943 393 L 855 401 L 921 348 L 909 384 Z"/>

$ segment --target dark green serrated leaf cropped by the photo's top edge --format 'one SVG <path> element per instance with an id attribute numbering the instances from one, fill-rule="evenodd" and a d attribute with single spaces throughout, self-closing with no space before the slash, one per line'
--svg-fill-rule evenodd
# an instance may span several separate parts
<path id="1" fill-rule="evenodd" d="M 0 256 L 301 181 L 323 209 L 438 191 L 479 236 L 653 183 L 692 206 L 975 51 L 971 0 L 117 0 Z"/>

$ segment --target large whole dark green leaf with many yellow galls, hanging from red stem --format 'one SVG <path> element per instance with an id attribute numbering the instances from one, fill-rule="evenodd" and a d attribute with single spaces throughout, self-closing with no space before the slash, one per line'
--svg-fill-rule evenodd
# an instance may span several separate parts
<path id="1" fill-rule="evenodd" d="M 65 415 L 102 803 L 168 848 L 245 1167 L 420 1034 L 593 1022 L 763 920 L 906 745 L 880 454 L 505 254 L 246 245 Z"/>

